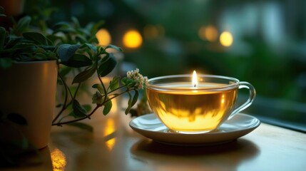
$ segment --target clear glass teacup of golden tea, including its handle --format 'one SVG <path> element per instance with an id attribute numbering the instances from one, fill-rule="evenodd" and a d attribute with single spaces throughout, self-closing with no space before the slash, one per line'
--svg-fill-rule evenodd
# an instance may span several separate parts
<path id="1" fill-rule="evenodd" d="M 207 133 L 248 108 L 255 88 L 248 82 L 226 76 L 199 75 L 198 85 L 190 75 L 162 76 L 148 81 L 147 96 L 153 113 L 178 133 Z M 236 106 L 238 90 L 248 88 L 245 103 Z"/>

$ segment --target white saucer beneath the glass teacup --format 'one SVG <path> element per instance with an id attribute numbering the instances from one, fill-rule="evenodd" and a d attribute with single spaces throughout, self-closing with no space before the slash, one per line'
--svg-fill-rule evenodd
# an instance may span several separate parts
<path id="1" fill-rule="evenodd" d="M 133 130 L 152 140 L 172 145 L 216 145 L 233 141 L 255 130 L 260 120 L 243 113 L 225 121 L 217 130 L 209 133 L 183 134 L 169 132 L 155 114 L 134 118 L 130 122 Z"/>

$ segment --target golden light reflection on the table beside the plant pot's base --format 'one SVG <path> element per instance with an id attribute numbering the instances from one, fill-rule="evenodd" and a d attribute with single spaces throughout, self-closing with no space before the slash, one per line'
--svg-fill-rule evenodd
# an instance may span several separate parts
<path id="1" fill-rule="evenodd" d="M 53 171 L 62 171 L 65 170 L 66 166 L 66 156 L 56 148 L 51 151 L 51 160 L 53 165 Z"/>

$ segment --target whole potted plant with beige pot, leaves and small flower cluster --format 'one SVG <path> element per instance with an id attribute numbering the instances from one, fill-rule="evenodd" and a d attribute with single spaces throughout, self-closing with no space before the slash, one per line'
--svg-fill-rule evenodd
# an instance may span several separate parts
<path id="1" fill-rule="evenodd" d="M 25 16 L 9 30 L 0 27 L 0 143 L 4 149 L 46 147 L 51 125 L 90 119 L 98 108 L 103 108 L 103 115 L 107 115 L 111 100 L 124 93 L 129 95 L 126 113 L 131 110 L 147 78 L 135 70 L 124 78 L 113 77 L 108 87 L 101 79 L 116 66 L 116 59 L 108 53 L 108 48 L 122 51 L 121 48 L 98 46 L 95 38 L 84 36 L 94 35 L 82 32 L 81 28 L 80 31 L 66 29 L 67 23 L 58 24 L 55 31 L 44 35 L 29 29 L 30 22 L 31 18 Z M 98 25 L 91 25 L 92 30 Z M 72 81 L 77 85 L 76 90 L 71 90 L 64 78 L 73 68 L 78 71 Z M 96 106 L 91 109 L 79 103 L 77 93 L 81 84 L 93 76 L 98 77 L 99 83 L 92 86 L 96 93 L 91 103 Z M 58 105 L 61 110 L 53 118 L 56 83 L 63 86 L 65 93 L 63 103 Z M 68 108 L 71 112 L 64 113 Z"/>

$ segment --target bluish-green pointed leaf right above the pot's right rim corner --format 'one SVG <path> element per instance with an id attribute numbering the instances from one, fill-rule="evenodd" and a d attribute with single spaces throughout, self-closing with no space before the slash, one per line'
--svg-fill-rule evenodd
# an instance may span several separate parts
<path id="1" fill-rule="evenodd" d="M 71 45 L 71 44 L 62 44 L 61 46 L 58 47 L 58 57 L 61 59 L 61 61 L 67 62 L 69 61 L 70 58 L 72 58 L 72 56 L 74 55 L 74 53 L 76 53 L 76 50 L 78 50 L 78 48 L 80 47 L 80 45 L 76 44 L 76 45 Z"/>

